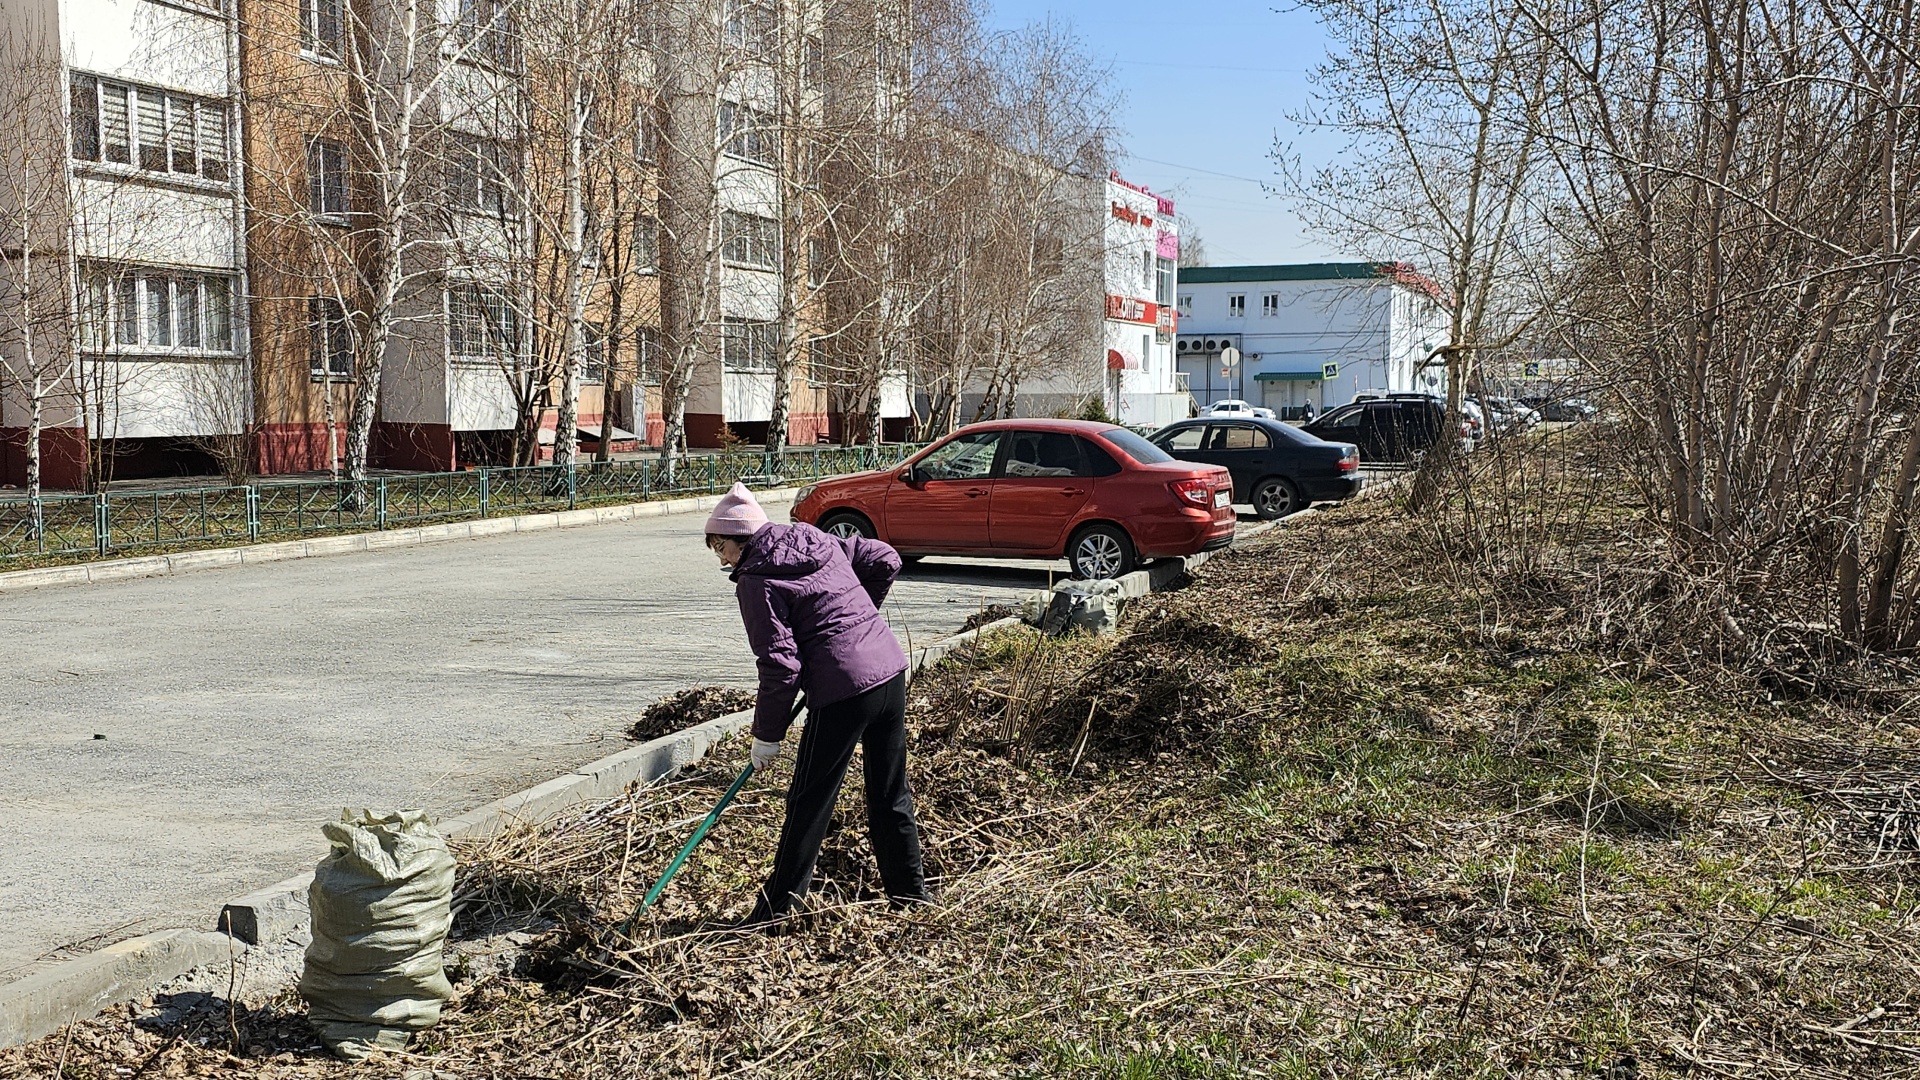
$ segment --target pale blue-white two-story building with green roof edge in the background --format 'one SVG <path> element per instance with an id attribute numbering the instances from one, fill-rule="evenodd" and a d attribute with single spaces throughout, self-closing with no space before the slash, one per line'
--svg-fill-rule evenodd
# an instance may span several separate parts
<path id="1" fill-rule="evenodd" d="M 1175 356 L 1202 409 L 1238 398 L 1296 419 L 1361 390 L 1446 392 L 1448 311 L 1405 263 L 1185 267 L 1177 294 Z"/>

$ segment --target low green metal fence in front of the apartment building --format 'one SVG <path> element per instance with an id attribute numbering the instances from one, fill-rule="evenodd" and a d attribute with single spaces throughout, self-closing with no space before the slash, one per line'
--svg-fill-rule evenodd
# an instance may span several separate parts
<path id="1" fill-rule="evenodd" d="M 745 480 L 776 488 L 906 459 L 920 446 L 806 446 L 664 461 L 582 461 L 570 469 L 468 469 L 351 480 L 102 492 L 0 500 L 0 565 L 23 557 L 138 553 L 253 544 L 313 532 L 371 532 L 440 521 L 718 494 Z"/>

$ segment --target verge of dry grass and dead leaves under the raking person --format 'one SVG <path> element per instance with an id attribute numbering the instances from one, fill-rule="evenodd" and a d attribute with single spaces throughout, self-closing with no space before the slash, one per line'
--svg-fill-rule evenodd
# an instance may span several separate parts
<path id="1" fill-rule="evenodd" d="M 705 932 L 766 872 L 755 784 L 620 938 L 730 748 L 463 851 L 457 936 L 524 947 L 457 961 L 405 1061 L 275 1042 L 282 999 L 234 1059 L 225 1015 L 79 1024 L 108 1045 L 67 1074 L 1920 1076 L 1912 724 L 1699 692 L 1582 636 L 1548 561 L 1517 588 L 1417 532 L 1388 500 L 1296 519 L 1117 640 L 924 673 L 933 909 L 877 901 L 854 782 L 803 924 Z"/>

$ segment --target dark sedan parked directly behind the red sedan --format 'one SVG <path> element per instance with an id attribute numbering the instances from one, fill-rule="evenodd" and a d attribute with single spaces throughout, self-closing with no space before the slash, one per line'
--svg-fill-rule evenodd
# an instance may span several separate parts
<path id="1" fill-rule="evenodd" d="M 1359 448 L 1325 442 L 1260 417 L 1171 423 L 1150 442 L 1181 461 L 1225 465 L 1233 473 L 1233 502 L 1252 503 L 1271 521 L 1317 502 L 1340 502 L 1359 492 Z"/>

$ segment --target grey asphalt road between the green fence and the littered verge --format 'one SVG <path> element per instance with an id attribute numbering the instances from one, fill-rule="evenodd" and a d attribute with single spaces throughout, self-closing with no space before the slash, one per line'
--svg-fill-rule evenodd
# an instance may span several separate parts
<path id="1" fill-rule="evenodd" d="M 783 507 L 770 507 L 776 519 Z M 311 869 L 342 807 L 451 815 L 753 686 L 703 515 L 0 598 L 0 982 Z M 927 559 L 931 642 L 1066 563 Z"/>

